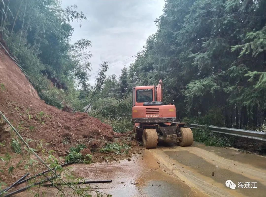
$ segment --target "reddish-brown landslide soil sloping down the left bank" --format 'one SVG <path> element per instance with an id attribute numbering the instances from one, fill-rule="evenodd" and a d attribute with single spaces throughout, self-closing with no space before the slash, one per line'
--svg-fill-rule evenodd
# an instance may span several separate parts
<path id="1" fill-rule="evenodd" d="M 0 110 L 13 126 L 33 140 L 48 143 L 49 149 L 65 152 L 74 144 L 86 144 L 90 148 L 101 147 L 113 138 L 112 127 L 84 113 L 63 112 L 40 100 L 28 79 L 0 49 Z M 3 124 L 3 123 L 2 123 Z M 1 127 L 0 142 L 10 142 L 7 125 Z M 1 147 L 0 153 L 6 152 Z"/>

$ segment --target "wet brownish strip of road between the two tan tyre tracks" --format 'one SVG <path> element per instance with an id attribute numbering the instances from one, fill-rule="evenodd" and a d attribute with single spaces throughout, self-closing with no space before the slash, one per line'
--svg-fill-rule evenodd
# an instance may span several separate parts
<path id="1" fill-rule="evenodd" d="M 174 159 L 177 162 L 188 166 L 189 170 L 191 170 L 192 172 L 196 172 L 206 177 L 212 178 L 214 181 L 219 182 L 223 185 L 225 185 L 225 182 L 228 179 L 232 180 L 236 184 L 235 190 L 237 192 L 241 192 L 243 195 L 261 197 L 265 196 L 265 186 L 262 185 L 258 180 L 250 180 L 250 178 L 247 178 L 244 175 L 234 173 L 228 169 L 223 169 L 222 166 L 215 166 L 213 164 L 210 164 L 201 157 L 194 155 L 193 153 L 190 153 L 188 151 L 165 151 L 164 153 L 167 154 L 171 159 Z M 212 176 L 213 172 L 214 176 Z M 237 188 L 238 182 L 257 182 L 257 188 Z"/>

